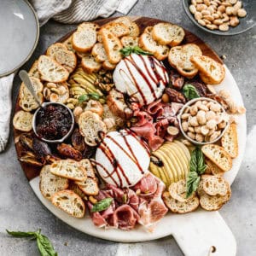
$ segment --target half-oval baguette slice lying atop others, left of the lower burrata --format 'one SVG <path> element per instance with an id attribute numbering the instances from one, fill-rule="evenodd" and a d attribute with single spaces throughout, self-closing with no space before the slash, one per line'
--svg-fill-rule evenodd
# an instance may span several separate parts
<path id="1" fill-rule="evenodd" d="M 87 176 L 84 167 L 75 160 L 55 160 L 50 167 L 49 171 L 60 177 L 67 177 L 75 181 L 84 181 Z"/>

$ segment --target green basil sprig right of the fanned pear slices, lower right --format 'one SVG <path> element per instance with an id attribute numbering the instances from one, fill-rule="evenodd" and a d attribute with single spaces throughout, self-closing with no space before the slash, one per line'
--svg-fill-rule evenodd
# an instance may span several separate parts
<path id="1" fill-rule="evenodd" d="M 201 148 L 195 148 L 191 154 L 189 174 L 186 180 L 186 198 L 189 198 L 196 191 L 201 180 L 201 174 L 206 172 L 206 169 L 205 157 Z"/>

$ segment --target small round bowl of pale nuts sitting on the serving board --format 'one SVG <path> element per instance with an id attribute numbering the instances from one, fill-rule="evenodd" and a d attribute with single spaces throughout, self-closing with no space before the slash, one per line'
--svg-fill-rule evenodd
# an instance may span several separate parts
<path id="1" fill-rule="evenodd" d="M 229 124 L 229 115 L 224 108 L 206 97 L 187 102 L 177 119 L 183 137 L 196 145 L 216 143 Z"/>

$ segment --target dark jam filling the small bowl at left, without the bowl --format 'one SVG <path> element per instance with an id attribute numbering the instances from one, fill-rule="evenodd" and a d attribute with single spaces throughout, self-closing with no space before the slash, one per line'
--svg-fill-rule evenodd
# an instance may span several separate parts
<path id="1" fill-rule="evenodd" d="M 71 129 L 72 117 L 67 108 L 52 104 L 38 110 L 36 131 L 38 137 L 58 140 L 67 135 Z"/>

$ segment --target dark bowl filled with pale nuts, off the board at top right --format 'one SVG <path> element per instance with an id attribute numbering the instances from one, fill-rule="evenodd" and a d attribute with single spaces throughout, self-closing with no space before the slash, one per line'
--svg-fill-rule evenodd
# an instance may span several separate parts
<path id="1" fill-rule="evenodd" d="M 196 26 L 218 35 L 246 32 L 256 21 L 256 1 L 183 0 L 183 8 Z"/>

